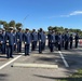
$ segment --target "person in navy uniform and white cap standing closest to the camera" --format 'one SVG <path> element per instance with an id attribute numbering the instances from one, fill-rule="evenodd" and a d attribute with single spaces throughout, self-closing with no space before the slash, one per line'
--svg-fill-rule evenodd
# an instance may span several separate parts
<path id="1" fill-rule="evenodd" d="M 11 28 L 12 30 L 12 28 Z M 14 36 L 13 31 L 6 33 L 6 57 L 13 58 Z"/>

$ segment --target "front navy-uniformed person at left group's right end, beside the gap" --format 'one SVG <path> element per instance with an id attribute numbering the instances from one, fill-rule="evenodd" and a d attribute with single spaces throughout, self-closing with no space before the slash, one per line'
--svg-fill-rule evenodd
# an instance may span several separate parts
<path id="1" fill-rule="evenodd" d="M 43 38 L 43 31 L 42 29 L 40 29 L 39 33 L 38 33 L 38 37 L 39 37 L 39 53 L 42 53 L 42 48 L 43 48 L 43 41 L 44 41 L 44 38 Z"/>

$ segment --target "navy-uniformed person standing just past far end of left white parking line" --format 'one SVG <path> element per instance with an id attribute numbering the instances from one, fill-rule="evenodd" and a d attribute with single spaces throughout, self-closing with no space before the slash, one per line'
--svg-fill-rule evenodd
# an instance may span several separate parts
<path id="1" fill-rule="evenodd" d="M 24 33 L 25 55 L 29 55 L 31 36 L 30 36 L 30 32 L 28 32 L 29 29 L 26 29 L 26 30 L 27 32 Z"/>

